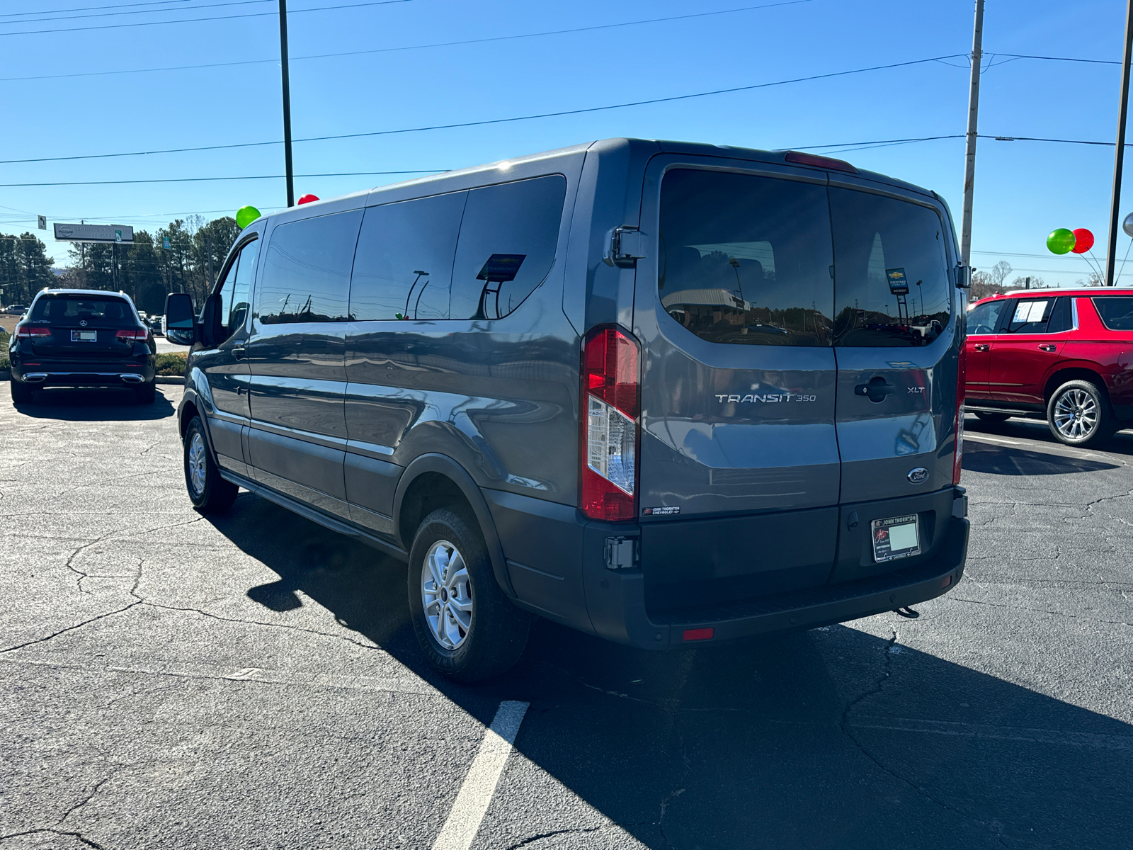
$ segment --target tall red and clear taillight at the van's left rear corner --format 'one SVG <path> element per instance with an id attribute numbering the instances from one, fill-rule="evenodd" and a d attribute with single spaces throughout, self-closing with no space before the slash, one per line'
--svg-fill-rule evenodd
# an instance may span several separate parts
<path id="1" fill-rule="evenodd" d="M 611 522 L 637 516 L 638 343 L 619 328 L 582 341 L 580 508 Z"/>

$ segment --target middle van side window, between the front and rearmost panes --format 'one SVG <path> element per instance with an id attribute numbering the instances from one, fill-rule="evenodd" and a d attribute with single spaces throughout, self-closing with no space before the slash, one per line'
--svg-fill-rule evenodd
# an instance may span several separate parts
<path id="1" fill-rule="evenodd" d="M 452 257 L 467 192 L 366 210 L 350 280 L 350 318 L 448 318 Z"/>

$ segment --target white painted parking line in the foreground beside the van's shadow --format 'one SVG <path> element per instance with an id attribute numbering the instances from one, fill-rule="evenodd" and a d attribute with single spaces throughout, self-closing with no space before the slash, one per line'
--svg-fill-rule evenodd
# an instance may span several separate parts
<path id="1" fill-rule="evenodd" d="M 496 716 L 484 733 L 479 753 L 468 768 L 449 819 L 433 842 L 433 850 L 468 850 L 492 802 L 500 774 L 511 755 L 511 745 L 530 703 L 500 703 Z"/>

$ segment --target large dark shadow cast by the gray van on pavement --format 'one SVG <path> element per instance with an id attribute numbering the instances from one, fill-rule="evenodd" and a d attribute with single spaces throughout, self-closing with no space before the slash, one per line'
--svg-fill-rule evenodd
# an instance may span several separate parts
<path id="1" fill-rule="evenodd" d="M 279 575 L 259 604 L 301 590 L 485 724 L 530 702 L 517 750 L 561 788 L 511 763 L 491 847 L 593 831 L 572 794 L 655 850 L 1127 845 L 1133 726 L 900 641 L 835 626 L 647 653 L 539 620 L 516 670 L 458 686 L 419 653 L 401 563 L 246 493 L 210 521 Z"/>

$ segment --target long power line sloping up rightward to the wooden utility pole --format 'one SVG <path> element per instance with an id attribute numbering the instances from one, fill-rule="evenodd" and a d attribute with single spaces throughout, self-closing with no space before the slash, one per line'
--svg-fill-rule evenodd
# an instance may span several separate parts
<path id="1" fill-rule="evenodd" d="M 960 56 L 960 54 L 955 54 Z M 905 68 L 912 65 L 923 65 L 925 62 L 935 62 L 940 57 L 934 57 L 931 59 L 913 59 L 908 62 L 893 62 L 891 65 L 876 65 L 869 68 L 854 68 L 853 70 L 845 71 L 830 71 L 829 74 L 815 74 L 809 77 L 795 77 L 793 79 L 780 79 L 773 83 L 757 83 L 747 86 L 733 86 L 731 88 L 715 88 L 710 92 L 695 92 L 692 94 L 676 94 L 668 97 L 651 97 L 644 101 L 631 101 L 628 103 L 612 103 L 605 107 L 587 107 L 585 109 L 566 109 L 559 112 L 539 112 L 529 116 L 513 116 L 511 118 L 488 118 L 480 121 L 462 121 L 459 124 L 437 124 L 427 127 L 406 127 L 397 130 L 374 130 L 370 133 L 343 133 L 334 136 L 308 136 L 306 138 L 297 138 L 295 142 L 333 142 L 342 138 L 367 138 L 372 136 L 392 136 L 401 133 L 424 133 L 426 130 L 446 130 L 457 129 L 461 127 L 483 127 L 485 125 L 492 124 L 510 124 L 513 121 L 530 121 L 537 118 L 560 118 L 563 116 L 577 116 L 583 114 L 586 112 L 602 112 L 611 109 L 625 109 L 628 107 L 645 107 L 654 103 L 671 103 L 673 101 L 691 100 L 692 97 L 708 97 L 716 94 L 733 94 L 735 92 L 750 92 L 757 88 L 770 88 L 773 86 L 789 85 L 792 83 L 809 83 L 816 79 L 828 79 L 830 77 L 844 77 L 852 74 L 864 74 L 866 71 L 875 70 L 888 70 L 892 68 Z M 77 156 L 46 156 L 41 159 L 26 159 L 26 160 L 0 160 L 2 165 L 11 165 L 17 163 L 26 162 L 59 162 L 61 160 L 93 160 L 93 159 L 107 159 L 110 156 L 147 156 L 157 153 L 187 153 L 190 151 L 220 151 L 220 150 L 231 150 L 235 147 L 259 147 L 263 145 L 279 145 L 282 144 L 279 141 L 272 142 L 241 142 L 231 145 L 202 145 L 199 147 L 178 147 L 169 148 L 162 151 L 130 151 L 127 153 L 100 153 L 100 154 L 83 154 Z M 11 185 L 11 184 L 0 184 L 0 185 Z M 44 184 L 20 184 L 29 186 L 39 186 Z"/>

